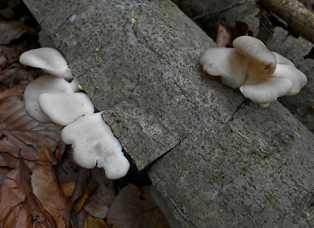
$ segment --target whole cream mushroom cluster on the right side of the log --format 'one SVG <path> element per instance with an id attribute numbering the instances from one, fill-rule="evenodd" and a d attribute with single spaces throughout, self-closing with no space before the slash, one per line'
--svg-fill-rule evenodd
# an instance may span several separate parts
<path id="1" fill-rule="evenodd" d="M 240 36 L 234 48 L 211 48 L 202 53 L 200 64 L 223 84 L 240 88 L 243 95 L 261 107 L 281 96 L 300 92 L 307 83 L 304 73 L 282 55 L 269 51 L 258 39 Z"/>

